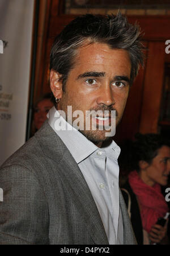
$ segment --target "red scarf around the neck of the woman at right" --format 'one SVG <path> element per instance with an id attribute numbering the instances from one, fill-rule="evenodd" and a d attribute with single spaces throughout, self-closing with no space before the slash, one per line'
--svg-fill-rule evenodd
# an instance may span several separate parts
<path id="1" fill-rule="evenodd" d="M 168 212 L 168 205 L 158 183 L 153 187 L 145 184 L 137 171 L 130 172 L 129 184 L 141 205 L 142 226 L 148 233 L 159 217 Z"/>

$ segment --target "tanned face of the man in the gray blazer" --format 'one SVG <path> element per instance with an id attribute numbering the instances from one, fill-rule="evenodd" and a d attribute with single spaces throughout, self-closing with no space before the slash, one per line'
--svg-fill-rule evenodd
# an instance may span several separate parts
<path id="1" fill-rule="evenodd" d="M 84 113 L 86 110 L 116 110 L 116 125 L 120 122 L 129 93 L 131 63 L 129 53 L 124 49 L 111 49 L 107 44 L 94 43 L 78 49 L 74 68 L 67 78 L 65 92 L 62 92 L 57 109 L 67 114 L 67 106 L 72 111 Z M 66 115 L 67 116 L 67 115 Z M 74 121 L 74 118 L 73 118 Z M 104 121 L 102 117 L 91 119 L 90 130 L 80 130 L 90 141 L 102 143 L 107 140 L 105 130 L 99 130 Z M 92 130 L 93 122 L 97 129 Z"/>

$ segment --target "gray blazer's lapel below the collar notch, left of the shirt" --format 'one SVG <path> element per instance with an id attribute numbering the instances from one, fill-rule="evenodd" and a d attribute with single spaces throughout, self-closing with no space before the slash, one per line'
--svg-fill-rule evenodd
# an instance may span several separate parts
<path id="1" fill-rule="evenodd" d="M 74 159 L 71 159 L 69 151 L 65 151 L 59 168 L 64 179 L 63 184 L 67 184 L 66 189 L 84 218 L 92 239 L 96 244 L 107 244 L 108 239 L 94 198 L 78 165 Z"/>

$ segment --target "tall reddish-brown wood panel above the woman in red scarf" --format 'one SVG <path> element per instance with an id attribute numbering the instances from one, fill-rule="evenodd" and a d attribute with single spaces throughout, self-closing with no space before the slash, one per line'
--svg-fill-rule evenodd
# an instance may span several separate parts
<path id="1" fill-rule="evenodd" d="M 164 42 L 150 42 L 141 112 L 141 133 L 157 133 L 164 75 Z"/>

